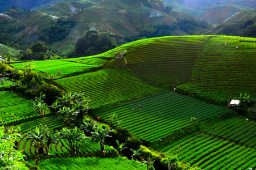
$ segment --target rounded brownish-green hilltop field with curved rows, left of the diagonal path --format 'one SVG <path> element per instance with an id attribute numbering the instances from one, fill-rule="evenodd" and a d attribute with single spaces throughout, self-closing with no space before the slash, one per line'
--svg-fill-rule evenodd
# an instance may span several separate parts
<path id="1" fill-rule="evenodd" d="M 152 39 L 127 50 L 126 58 L 129 68 L 149 82 L 182 84 L 188 82 L 207 40 L 207 36 Z"/>

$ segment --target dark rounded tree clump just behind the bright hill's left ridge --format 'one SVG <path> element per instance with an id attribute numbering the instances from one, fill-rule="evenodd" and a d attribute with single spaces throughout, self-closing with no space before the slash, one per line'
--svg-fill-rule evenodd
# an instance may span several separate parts
<path id="1" fill-rule="evenodd" d="M 117 47 L 109 33 L 89 31 L 85 36 L 80 37 L 76 42 L 76 57 L 92 56 L 104 53 Z"/>

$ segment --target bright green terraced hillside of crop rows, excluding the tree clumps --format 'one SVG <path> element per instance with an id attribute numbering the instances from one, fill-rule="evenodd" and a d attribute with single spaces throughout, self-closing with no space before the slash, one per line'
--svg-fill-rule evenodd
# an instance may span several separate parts
<path id="1" fill-rule="evenodd" d="M 86 107 L 90 107 L 84 121 L 109 130 L 111 138 L 104 139 L 104 150 L 102 143 L 94 141 L 96 135 L 94 138 L 87 133 L 89 138 L 75 153 L 68 139 L 61 138 L 48 145 L 50 155 L 39 154 L 40 169 L 79 169 L 81 164 L 95 169 L 141 169 L 146 165 L 139 162 L 151 158 L 155 169 L 163 169 L 167 168 L 167 155 L 174 158 L 175 165 L 190 170 L 256 168 L 255 112 L 245 114 L 226 107 L 229 99 L 237 99 L 245 92 L 255 99 L 255 42 L 254 38 L 225 35 L 166 36 L 133 41 L 95 56 L 11 63 L 17 69 L 30 65 L 27 70 L 32 73 L 22 69 L 14 82 L 27 84 L 16 89 L 5 87 L 9 91 L 0 92 L 0 115 L 22 129 L 16 147 L 26 155 L 31 168 L 35 167 L 39 149 L 26 135 L 42 124 L 49 133 L 61 132 L 63 137 L 61 129 L 67 122 L 56 117 L 67 108 L 69 113 L 79 108 L 72 115 L 69 130 L 83 127 L 85 124 L 76 116 L 84 109 L 81 99 L 86 99 Z M 63 75 L 52 79 L 44 75 L 43 79 L 39 74 L 46 70 L 52 77 L 57 70 Z M 36 81 L 40 79 L 45 84 L 39 89 L 53 82 L 66 92 L 62 95 L 61 91 L 62 97 L 44 118 L 39 118 L 42 116 L 34 111 L 30 100 L 18 96 L 21 92 L 25 97 L 36 95 Z M 44 92 L 57 98 L 56 90 L 46 88 Z M 75 103 L 79 107 L 69 108 Z M 65 107 L 59 108 L 60 104 Z M 93 121 L 96 116 L 97 122 Z M 118 152 L 117 140 L 133 151 Z M 136 157 L 139 162 L 121 158 L 134 159 L 134 150 L 141 154 Z"/>

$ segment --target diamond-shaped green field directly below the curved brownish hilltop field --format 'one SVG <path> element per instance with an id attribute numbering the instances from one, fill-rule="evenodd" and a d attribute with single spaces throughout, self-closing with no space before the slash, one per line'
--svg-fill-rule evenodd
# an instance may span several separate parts
<path id="1" fill-rule="evenodd" d="M 89 96 L 91 100 L 92 108 L 163 91 L 148 85 L 134 74 L 119 69 L 103 69 L 55 82 L 67 91 L 85 92 L 85 96 Z"/>

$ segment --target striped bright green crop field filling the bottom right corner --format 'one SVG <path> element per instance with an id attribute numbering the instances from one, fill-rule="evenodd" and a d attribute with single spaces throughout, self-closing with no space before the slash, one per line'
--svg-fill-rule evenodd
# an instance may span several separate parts
<path id="1" fill-rule="evenodd" d="M 159 151 L 203 169 L 256 168 L 256 122 L 234 117 L 181 138 Z"/>

